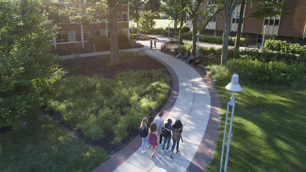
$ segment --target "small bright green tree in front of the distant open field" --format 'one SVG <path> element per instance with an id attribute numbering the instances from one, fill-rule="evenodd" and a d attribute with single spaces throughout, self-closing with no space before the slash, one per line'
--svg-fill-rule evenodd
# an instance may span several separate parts
<path id="1" fill-rule="evenodd" d="M 146 33 L 146 36 L 147 33 L 150 32 L 153 29 L 153 27 L 156 25 L 156 21 L 154 20 L 155 16 L 156 15 L 152 13 L 151 10 L 140 12 L 139 29 L 142 32 Z"/>

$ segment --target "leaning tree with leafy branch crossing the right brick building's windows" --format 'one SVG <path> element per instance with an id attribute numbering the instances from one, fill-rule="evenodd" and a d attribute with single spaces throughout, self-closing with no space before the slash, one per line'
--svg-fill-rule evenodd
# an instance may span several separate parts
<path id="1" fill-rule="evenodd" d="M 287 9 L 283 6 L 282 1 L 273 1 L 273 0 L 252 0 L 252 3 L 255 3 L 255 11 L 250 13 L 248 16 L 243 17 L 244 13 L 244 6 L 245 4 L 251 3 L 251 0 L 242 0 L 241 1 L 241 8 L 240 8 L 240 16 L 237 26 L 237 34 L 236 34 L 236 41 L 235 41 L 235 48 L 239 48 L 240 44 L 240 36 L 241 36 L 241 27 L 244 19 L 247 18 L 265 18 L 265 17 L 272 17 L 272 16 L 279 16 L 281 15 L 284 9 Z"/>

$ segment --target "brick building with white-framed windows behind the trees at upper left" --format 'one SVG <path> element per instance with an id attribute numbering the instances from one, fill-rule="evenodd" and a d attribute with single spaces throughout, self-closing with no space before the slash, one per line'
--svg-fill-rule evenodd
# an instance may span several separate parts
<path id="1" fill-rule="evenodd" d="M 58 7 L 65 5 L 64 0 L 59 0 L 56 4 Z M 89 35 L 105 35 L 110 37 L 109 20 L 99 19 L 99 22 L 94 22 L 89 25 L 81 23 L 66 23 L 67 19 L 56 18 L 53 23 L 61 27 L 58 34 L 53 39 L 52 50 L 67 50 L 75 48 L 89 47 Z M 123 5 L 117 11 L 117 28 L 118 36 L 125 35 L 129 37 L 129 4 Z"/>

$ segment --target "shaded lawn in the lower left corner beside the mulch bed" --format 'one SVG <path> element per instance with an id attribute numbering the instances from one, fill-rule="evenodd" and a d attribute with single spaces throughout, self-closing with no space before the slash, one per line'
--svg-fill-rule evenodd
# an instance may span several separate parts
<path id="1" fill-rule="evenodd" d="M 30 110 L 24 127 L 0 134 L 0 171 L 92 171 L 109 157 Z"/>

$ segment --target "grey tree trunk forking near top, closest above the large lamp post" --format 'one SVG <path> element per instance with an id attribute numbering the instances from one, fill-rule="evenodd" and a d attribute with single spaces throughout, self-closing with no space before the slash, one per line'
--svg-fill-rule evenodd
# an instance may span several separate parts
<path id="1" fill-rule="evenodd" d="M 222 37 L 222 56 L 221 56 L 221 65 L 225 65 L 227 61 L 227 51 L 230 35 L 230 21 L 233 15 L 233 11 L 237 6 L 238 0 L 225 0 L 224 3 L 224 12 L 225 12 L 225 26 L 223 30 Z"/>

